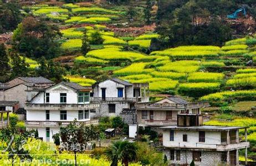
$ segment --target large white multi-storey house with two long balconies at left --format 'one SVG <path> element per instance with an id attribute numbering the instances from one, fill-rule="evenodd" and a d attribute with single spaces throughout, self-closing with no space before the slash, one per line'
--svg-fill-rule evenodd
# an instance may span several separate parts
<path id="1" fill-rule="evenodd" d="M 25 105 L 27 129 L 38 129 L 39 137 L 52 142 L 59 126 L 68 125 L 75 118 L 85 125 L 98 125 L 99 121 L 90 116 L 99 108 L 99 103 L 90 102 L 91 91 L 91 86 L 74 82 L 60 82 L 38 91 Z"/>

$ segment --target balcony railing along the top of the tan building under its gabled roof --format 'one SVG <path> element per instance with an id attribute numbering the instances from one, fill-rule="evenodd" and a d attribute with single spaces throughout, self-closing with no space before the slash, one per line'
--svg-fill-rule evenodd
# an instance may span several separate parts
<path id="1" fill-rule="evenodd" d="M 208 102 L 194 102 L 187 104 L 177 103 L 136 103 L 135 107 L 138 110 L 186 110 L 187 108 L 202 108 L 208 107 Z"/>

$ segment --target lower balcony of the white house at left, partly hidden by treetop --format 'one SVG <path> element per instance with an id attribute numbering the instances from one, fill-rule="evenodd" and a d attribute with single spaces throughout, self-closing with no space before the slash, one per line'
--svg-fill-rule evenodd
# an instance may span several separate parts
<path id="1" fill-rule="evenodd" d="M 73 121 L 25 121 L 26 127 L 59 127 L 68 125 Z M 99 125 L 99 120 L 80 121 L 78 123 L 84 123 L 85 126 Z"/>

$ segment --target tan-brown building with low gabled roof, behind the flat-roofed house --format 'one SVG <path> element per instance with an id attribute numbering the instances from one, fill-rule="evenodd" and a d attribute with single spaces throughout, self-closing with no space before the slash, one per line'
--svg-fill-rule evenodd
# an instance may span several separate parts
<path id="1" fill-rule="evenodd" d="M 178 96 L 170 96 L 156 102 L 136 103 L 139 127 L 160 127 L 177 124 L 178 113 L 201 113 L 208 102 L 188 102 Z"/>

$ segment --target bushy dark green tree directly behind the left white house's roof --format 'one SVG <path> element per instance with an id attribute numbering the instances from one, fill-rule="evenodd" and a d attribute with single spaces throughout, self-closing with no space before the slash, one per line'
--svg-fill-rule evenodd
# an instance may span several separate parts
<path id="1" fill-rule="evenodd" d="M 37 76 L 43 76 L 54 82 L 61 82 L 63 76 L 66 74 L 65 69 L 60 66 L 60 63 L 55 63 L 53 60 L 47 61 L 45 58 L 41 58 L 39 61 L 39 67 L 35 69 Z"/>

